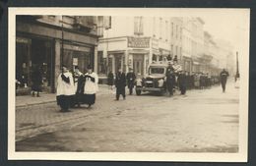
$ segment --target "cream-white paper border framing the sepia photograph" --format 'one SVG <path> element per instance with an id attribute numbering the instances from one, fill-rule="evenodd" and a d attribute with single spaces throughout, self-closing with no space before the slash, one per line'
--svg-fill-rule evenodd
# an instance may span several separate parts
<path id="1" fill-rule="evenodd" d="M 8 159 L 9 160 L 104 160 L 104 161 L 196 161 L 246 162 L 248 147 L 248 80 L 250 9 L 185 8 L 9 8 L 8 34 Z M 242 17 L 239 95 L 239 151 L 237 153 L 167 152 L 16 152 L 15 151 L 15 37 L 16 15 L 73 16 L 171 16 L 231 15 Z"/>

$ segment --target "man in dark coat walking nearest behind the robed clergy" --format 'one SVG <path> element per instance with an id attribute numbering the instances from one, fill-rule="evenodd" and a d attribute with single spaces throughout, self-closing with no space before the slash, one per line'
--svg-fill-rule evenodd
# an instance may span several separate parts
<path id="1" fill-rule="evenodd" d="M 122 94 L 123 99 L 125 99 L 126 77 L 125 77 L 125 74 L 122 72 L 121 68 L 119 68 L 118 72 L 116 73 L 115 86 L 116 86 L 116 100 L 119 100 L 120 94 Z"/>

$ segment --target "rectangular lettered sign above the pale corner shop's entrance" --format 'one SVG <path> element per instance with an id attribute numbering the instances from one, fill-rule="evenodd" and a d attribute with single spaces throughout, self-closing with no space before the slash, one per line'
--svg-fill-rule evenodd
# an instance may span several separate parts
<path id="1" fill-rule="evenodd" d="M 128 37 L 128 47 L 150 48 L 150 37 Z"/>

